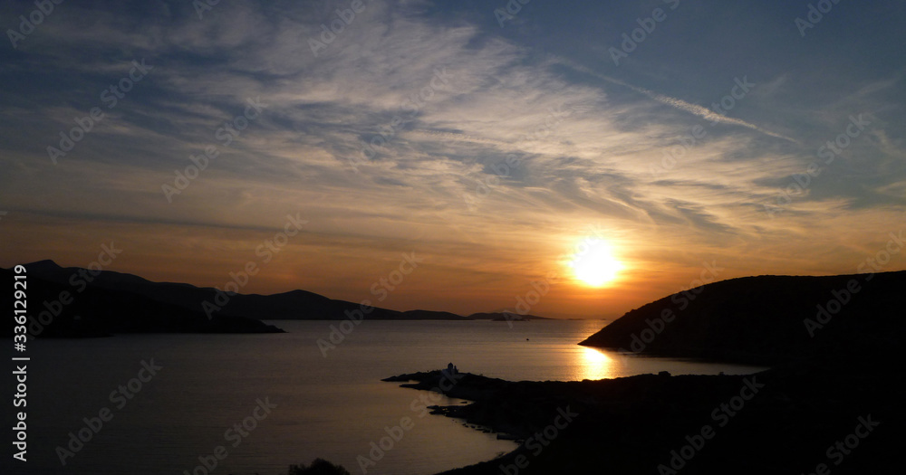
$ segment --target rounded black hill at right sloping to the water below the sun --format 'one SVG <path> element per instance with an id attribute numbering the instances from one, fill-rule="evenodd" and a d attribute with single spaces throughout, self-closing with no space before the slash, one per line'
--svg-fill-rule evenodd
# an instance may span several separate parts
<path id="1" fill-rule="evenodd" d="M 631 310 L 580 345 L 768 365 L 893 345 L 903 337 L 904 289 L 906 271 L 723 280 Z"/>

